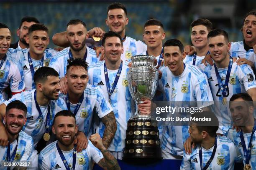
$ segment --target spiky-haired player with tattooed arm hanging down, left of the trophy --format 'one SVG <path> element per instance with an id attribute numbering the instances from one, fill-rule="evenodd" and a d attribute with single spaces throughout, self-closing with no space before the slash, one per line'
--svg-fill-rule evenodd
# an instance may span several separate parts
<path id="1" fill-rule="evenodd" d="M 60 97 L 66 102 L 68 110 L 74 113 L 78 130 L 86 136 L 95 133 L 90 130 L 94 130 L 92 118 L 93 113 L 97 113 L 105 125 L 102 142 L 108 148 L 116 131 L 115 116 L 100 87 L 87 84 L 87 67 L 87 62 L 83 59 L 68 60 L 67 75 L 65 76 L 68 93 L 67 95 L 61 94 Z"/>

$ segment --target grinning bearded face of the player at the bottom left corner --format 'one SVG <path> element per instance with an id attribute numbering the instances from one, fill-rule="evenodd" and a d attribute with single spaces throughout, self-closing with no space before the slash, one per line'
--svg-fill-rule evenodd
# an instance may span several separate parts
<path id="1" fill-rule="evenodd" d="M 10 135 L 16 135 L 20 133 L 23 125 L 26 124 L 26 113 L 23 110 L 12 108 L 6 112 L 5 115 L 5 127 Z"/>

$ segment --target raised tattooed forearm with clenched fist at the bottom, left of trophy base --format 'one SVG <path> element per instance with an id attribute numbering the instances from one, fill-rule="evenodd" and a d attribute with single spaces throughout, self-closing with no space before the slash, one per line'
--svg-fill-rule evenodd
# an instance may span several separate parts
<path id="1" fill-rule="evenodd" d="M 101 168 L 103 168 L 104 170 L 121 170 L 120 166 L 118 165 L 118 161 L 105 148 L 98 133 L 91 135 L 89 140 L 96 148 L 101 151 L 104 157 L 97 163 Z"/>

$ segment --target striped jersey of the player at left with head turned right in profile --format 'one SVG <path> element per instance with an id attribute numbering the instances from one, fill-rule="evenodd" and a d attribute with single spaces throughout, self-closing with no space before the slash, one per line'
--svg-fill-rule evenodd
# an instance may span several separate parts
<path id="1" fill-rule="evenodd" d="M 40 106 L 42 115 L 44 119 L 39 115 L 38 110 L 36 109 L 36 103 L 34 100 L 34 92 L 35 90 L 21 92 L 19 94 L 13 95 L 13 97 L 5 101 L 5 105 L 8 105 L 10 102 L 14 100 L 20 100 L 27 106 L 27 122 L 26 125 L 23 126 L 23 131 L 26 132 L 28 135 L 31 135 L 34 141 L 34 148 L 38 141 L 42 138 L 45 133 L 45 124 L 46 122 L 46 115 L 48 112 L 48 105 Z M 66 103 L 62 99 L 58 100 L 50 100 L 50 129 L 53 123 L 54 116 L 57 112 L 61 110 L 67 110 Z"/>

